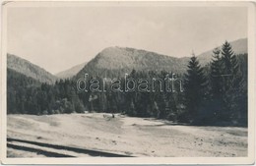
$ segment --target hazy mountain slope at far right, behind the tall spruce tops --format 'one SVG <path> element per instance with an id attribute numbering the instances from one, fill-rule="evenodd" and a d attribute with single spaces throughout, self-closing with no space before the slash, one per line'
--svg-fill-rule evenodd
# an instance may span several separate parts
<path id="1" fill-rule="evenodd" d="M 232 46 L 233 52 L 238 54 L 243 54 L 248 52 L 248 41 L 247 38 L 241 38 L 230 42 Z M 222 46 L 219 46 L 222 49 Z M 214 49 L 214 48 L 213 48 Z M 202 54 L 198 55 L 198 60 L 200 61 L 201 65 L 206 65 L 207 63 L 211 62 L 213 49 L 203 52 Z"/>

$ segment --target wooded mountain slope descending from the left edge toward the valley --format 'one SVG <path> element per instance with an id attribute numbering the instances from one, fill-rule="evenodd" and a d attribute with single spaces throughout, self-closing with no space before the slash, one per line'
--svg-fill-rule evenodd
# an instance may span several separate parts
<path id="1" fill-rule="evenodd" d="M 57 78 L 30 61 L 15 55 L 7 54 L 7 68 L 21 73 L 40 83 L 55 83 Z"/>

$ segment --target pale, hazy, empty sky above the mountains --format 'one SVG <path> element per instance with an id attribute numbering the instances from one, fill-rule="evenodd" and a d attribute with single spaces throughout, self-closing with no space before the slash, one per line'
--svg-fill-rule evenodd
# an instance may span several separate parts
<path id="1" fill-rule="evenodd" d="M 52 7 L 8 9 L 8 52 L 52 74 L 109 46 L 183 57 L 247 37 L 239 7 Z"/>

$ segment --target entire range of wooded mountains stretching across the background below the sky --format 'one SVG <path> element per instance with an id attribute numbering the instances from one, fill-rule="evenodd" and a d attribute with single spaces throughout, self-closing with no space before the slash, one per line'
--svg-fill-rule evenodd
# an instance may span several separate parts
<path id="1" fill-rule="evenodd" d="M 235 54 L 247 53 L 247 38 L 231 41 L 230 44 Z M 213 49 L 197 55 L 201 66 L 211 62 Z M 187 69 L 189 59 L 190 57 L 177 58 L 143 49 L 112 46 L 101 50 L 91 61 L 76 65 L 55 76 L 13 54 L 7 54 L 7 68 L 41 83 L 55 83 L 59 79 L 80 78 L 84 73 L 99 77 L 119 77 L 125 73 L 129 74 L 133 69 L 183 74 Z"/>

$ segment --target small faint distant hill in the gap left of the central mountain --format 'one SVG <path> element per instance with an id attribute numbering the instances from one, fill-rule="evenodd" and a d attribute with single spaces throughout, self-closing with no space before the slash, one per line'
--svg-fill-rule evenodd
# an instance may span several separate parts
<path id="1" fill-rule="evenodd" d="M 73 76 L 77 75 L 78 72 L 83 69 L 85 67 L 85 65 L 87 64 L 87 62 L 83 63 L 83 64 L 79 64 L 77 66 L 74 66 L 68 70 L 62 71 L 57 73 L 55 76 L 60 78 L 60 79 L 68 79 L 68 78 L 72 78 Z"/>

